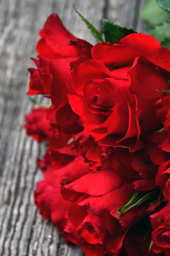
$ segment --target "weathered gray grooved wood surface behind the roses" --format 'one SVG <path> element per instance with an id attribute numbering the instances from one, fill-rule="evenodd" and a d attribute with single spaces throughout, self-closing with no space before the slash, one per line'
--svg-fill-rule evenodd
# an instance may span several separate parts
<path id="1" fill-rule="evenodd" d="M 33 190 L 42 179 L 36 162 L 45 145 L 32 141 L 23 130 L 24 115 L 33 107 L 26 96 L 27 68 L 33 67 L 29 57 L 37 56 L 38 33 L 47 16 L 56 12 L 77 37 L 95 43 L 71 2 L 0 0 L 0 256 L 82 255 L 78 247 L 64 245 L 34 205 Z M 105 17 L 144 32 L 139 10 L 145 0 L 74 2 L 100 31 Z"/>

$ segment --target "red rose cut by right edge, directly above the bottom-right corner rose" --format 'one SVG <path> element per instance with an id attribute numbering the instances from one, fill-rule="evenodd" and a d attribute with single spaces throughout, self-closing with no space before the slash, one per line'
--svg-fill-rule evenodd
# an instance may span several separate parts
<path id="1" fill-rule="evenodd" d="M 155 182 L 161 188 L 164 197 L 170 200 L 170 160 L 159 167 Z"/>

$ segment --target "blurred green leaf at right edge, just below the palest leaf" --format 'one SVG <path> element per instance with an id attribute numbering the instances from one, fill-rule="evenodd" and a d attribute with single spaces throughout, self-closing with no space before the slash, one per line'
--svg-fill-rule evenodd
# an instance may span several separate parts
<path id="1" fill-rule="evenodd" d="M 155 37 L 159 42 L 161 42 L 165 38 L 170 37 L 170 21 L 166 21 L 166 22 L 160 23 L 156 26 L 147 28 L 147 31 L 153 37 Z"/>

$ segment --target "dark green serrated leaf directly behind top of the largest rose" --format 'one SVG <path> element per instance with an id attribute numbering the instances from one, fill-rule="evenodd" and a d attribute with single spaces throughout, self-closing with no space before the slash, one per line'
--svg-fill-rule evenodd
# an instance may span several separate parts
<path id="1" fill-rule="evenodd" d="M 132 28 L 123 27 L 116 22 L 112 22 L 111 20 L 103 19 L 103 33 L 106 41 L 116 43 L 116 41 L 120 41 L 128 34 L 136 33 L 136 31 L 134 31 Z"/>

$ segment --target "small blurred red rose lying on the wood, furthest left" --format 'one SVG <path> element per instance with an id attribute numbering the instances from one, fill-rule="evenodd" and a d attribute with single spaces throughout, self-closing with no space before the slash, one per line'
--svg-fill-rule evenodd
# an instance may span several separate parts
<path id="1" fill-rule="evenodd" d="M 48 108 L 32 108 L 30 114 L 26 114 L 26 129 L 27 135 L 37 142 L 48 140 L 53 132 L 50 130 L 50 123 L 47 119 Z"/>

